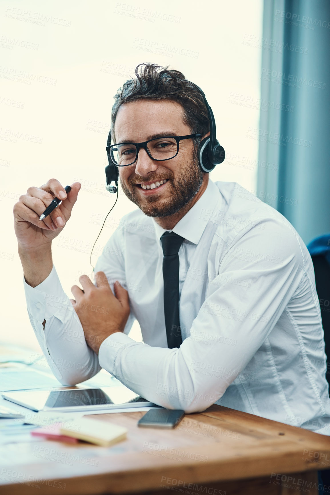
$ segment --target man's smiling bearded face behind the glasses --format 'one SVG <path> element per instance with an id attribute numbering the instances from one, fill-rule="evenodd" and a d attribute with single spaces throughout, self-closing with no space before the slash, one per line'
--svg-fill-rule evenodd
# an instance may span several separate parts
<path id="1" fill-rule="evenodd" d="M 165 229 L 172 229 L 178 223 L 204 193 L 208 182 L 208 174 L 201 172 L 196 153 L 192 152 L 196 134 L 191 134 L 184 117 L 183 107 L 176 101 L 156 100 L 150 107 L 149 102 L 140 99 L 120 106 L 115 120 L 114 136 L 119 137 L 116 141 L 125 143 L 127 137 L 138 134 L 139 138 L 151 140 L 147 149 L 156 159 L 168 161 L 168 157 L 176 155 L 161 167 L 146 150 L 141 151 L 144 159 L 131 167 L 123 166 L 123 162 L 134 160 L 136 149 L 130 150 L 126 145 L 118 150 L 122 155 L 120 181 L 124 193 L 145 215 L 156 217 L 158 225 Z M 138 130 L 140 127 L 143 133 Z M 158 128 L 167 130 L 157 132 Z M 159 139 L 173 135 L 185 138 L 180 140 L 179 147 L 174 138 Z"/>

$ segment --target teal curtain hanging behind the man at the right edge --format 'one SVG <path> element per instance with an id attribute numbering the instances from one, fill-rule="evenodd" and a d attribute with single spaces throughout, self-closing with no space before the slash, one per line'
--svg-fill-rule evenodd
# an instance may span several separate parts
<path id="1" fill-rule="evenodd" d="M 330 1 L 265 0 L 257 195 L 308 244 L 330 232 Z"/>

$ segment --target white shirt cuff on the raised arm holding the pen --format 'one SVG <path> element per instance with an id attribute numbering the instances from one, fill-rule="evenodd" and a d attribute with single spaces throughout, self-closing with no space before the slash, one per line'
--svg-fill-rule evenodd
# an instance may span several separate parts
<path id="1" fill-rule="evenodd" d="M 23 279 L 26 303 L 29 313 L 40 323 L 51 316 L 65 317 L 66 311 L 73 309 L 69 298 L 62 289 L 53 265 L 47 279 L 36 287 L 31 287 Z M 63 313 L 62 317 L 60 316 Z"/>

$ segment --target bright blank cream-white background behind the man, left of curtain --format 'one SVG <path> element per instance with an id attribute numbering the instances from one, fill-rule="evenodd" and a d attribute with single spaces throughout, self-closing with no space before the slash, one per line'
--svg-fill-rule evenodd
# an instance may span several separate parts
<path id="1" fill-rule="evenodd" d="M 26 311 L 14 203 L 50 177 L 64 186 L 82 182 L 71 220 L 53 243 L 57 272 L 71 295 L 80 274 L 91 273 L 90 250 L 115 199 L 104 189 L 113 95 L 146 61 L 182 71 L 205 92 L 227 153 L 212 180 L 255 191 L 257 142 L 247 130 L 258 127 L 261 49 L 246 40 L 261 37 L 262 1 L 14 0 L 0 6 L 0 23 L 0 343 L 38 349 Z M 96 253 L 135 208 L 119 195 Z"/>

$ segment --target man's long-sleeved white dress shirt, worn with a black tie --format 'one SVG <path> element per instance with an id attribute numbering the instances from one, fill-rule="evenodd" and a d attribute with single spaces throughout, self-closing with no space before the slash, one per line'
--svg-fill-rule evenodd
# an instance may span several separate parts
<path id="1" fill-rule="evenodd" d="M 102 367 L 169 409 L 194 412 L 217 403 L 330 435 L 314 269 L 292 225 L 238 184 L 209 179 L 173 231 L 185 238 L 179 349 L 169 349 L 166 339 L 165 230 L 140 209 L 122 218 L 95 267 L 112 289 L 119 280 L 131 307 L 124 333 L 109 336 L 98 358 L 55 268 L 36 288 L 24 282 L 30 320 L 56 378 L 74 385 Z M 143 343 L 127 335 L 135 318 Z"/>

